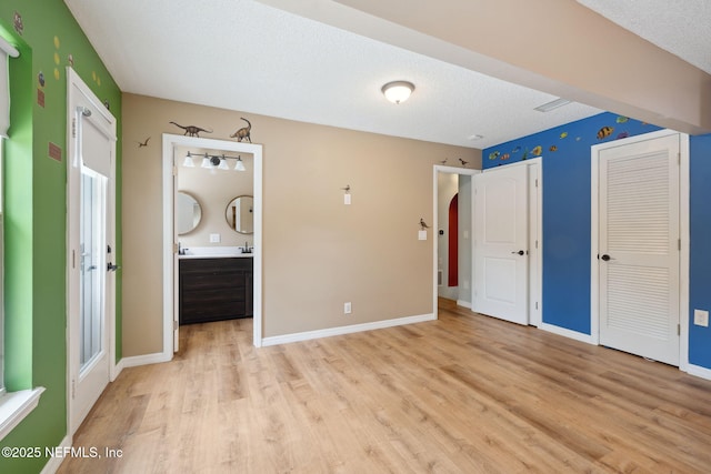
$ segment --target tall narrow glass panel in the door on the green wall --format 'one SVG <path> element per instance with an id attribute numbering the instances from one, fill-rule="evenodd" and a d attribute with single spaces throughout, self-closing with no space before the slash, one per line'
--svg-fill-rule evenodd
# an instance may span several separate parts
<path id="1" fill-rule="evenodd" d="M 107 272 L 106 244 L 106 178 L 89 169 L 81 175 L 81 284 L 79 339 L 80 373 L 101 353 L 103 347 L 104 281 Z"/>

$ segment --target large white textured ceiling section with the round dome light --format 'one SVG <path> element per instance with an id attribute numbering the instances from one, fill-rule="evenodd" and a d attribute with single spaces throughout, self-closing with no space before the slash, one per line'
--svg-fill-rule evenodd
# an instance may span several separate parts
<path id="1" fill-rule="evenodd" d="M 479 149 L 600 112 L 254 0 L 66 3 L 124 92 Z"/>

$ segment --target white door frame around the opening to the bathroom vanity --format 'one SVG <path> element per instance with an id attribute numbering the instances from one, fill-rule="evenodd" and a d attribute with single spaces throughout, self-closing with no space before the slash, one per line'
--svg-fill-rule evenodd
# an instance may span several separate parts
<path id="1" fill-rule="evenodd" d="M 262 145 L 228 140 L 163 133 L 163 352 L 173 356 L 173 339 L 178 331 L 177 245 L 174 242 L 173 202 L 176 196 L 173 154 L 176 147 L 194 147 L 226 152 L 251 153 L 254 157 L 254 235 L 253 235 L 253 344 L 262 346 Z"/>

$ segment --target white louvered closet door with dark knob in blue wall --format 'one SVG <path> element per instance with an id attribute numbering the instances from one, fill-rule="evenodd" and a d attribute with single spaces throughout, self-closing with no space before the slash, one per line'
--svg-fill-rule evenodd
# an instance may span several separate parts
<path id="1" fill-rule="evenodd" d="M 679 364 L 679 135 L 600 152 L 600 343 Z"/>

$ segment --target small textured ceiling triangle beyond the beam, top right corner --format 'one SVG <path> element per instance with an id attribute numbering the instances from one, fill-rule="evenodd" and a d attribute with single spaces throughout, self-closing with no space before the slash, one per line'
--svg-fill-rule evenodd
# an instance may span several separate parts
<path id="1" fill-rule="evenodd" d="M 711 1 L 578 0 L 578 2 L 711 74 Z"/>

